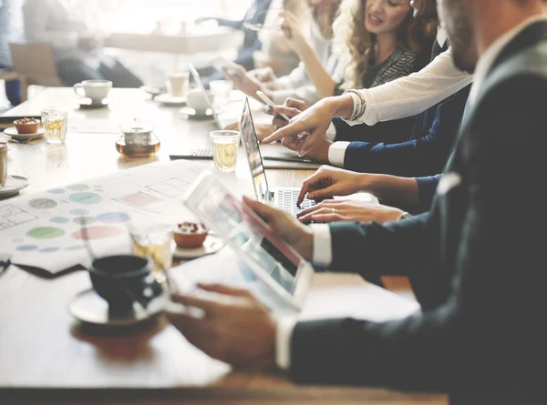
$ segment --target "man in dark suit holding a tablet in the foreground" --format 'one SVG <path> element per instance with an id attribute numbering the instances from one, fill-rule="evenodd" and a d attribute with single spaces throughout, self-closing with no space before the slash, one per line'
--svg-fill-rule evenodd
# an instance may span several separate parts
<path id="1" fill-rule="evenodd" d="M 512 394 L 512 403 L 526 402 L 541 389 L 538 370 L 547 360 L 544 239 L 536 236 L 547 227 L 544 3 L 438 0 L 455 62 L 475 71 L 475 82 L 427 214 L 384 225 L 333 224 L 325 232 L 246 201 L 316 264 L 364 276 L 404 268 L 416 281 L 421 311 L 384 323 L 294 323 L 272 319 L 244 291 L 209 286 L 239 299 L 174 296 L 205 316 L 172 313 L 173 324 L 217 359 L 277 365 L 307 383 L 442 390 L 452 403 L 506 403 Z M 517 198 L 525 209 L 515 209 Z"/>

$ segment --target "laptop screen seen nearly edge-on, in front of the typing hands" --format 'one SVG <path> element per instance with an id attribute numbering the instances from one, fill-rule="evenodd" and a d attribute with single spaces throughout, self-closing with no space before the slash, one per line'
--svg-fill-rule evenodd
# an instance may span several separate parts
<path id="1" fill-rule="evenodd" d="M 269 187 L 264 172 L 258 138 L 254 130 L 253 116 L 251 115 L 251 106 L 249 105 L 248 97 L 245 97 L 245 103 L 243 104 L 240 131 L 242 133 L 243 147 L 245 147 L 247 160 L 249 160 L 249 167 L 253 176 L 254 193 L 256 194 L 256 199 L 262 202 L 269 197 Z"/>

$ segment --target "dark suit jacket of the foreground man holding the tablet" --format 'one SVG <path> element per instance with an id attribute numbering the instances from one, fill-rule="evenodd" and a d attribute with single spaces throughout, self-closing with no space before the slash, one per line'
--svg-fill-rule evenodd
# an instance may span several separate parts
<path id="1" fill-rule="evenodd" d="M 427 214 L 330 225 L 332 268 L 408 275 L 422 310 L 385 323 L 297 323 L 295 380 L 459 395 L 492 389 L 483 402 L 492 404 L 503 390 L 542 387 L 546 95 L 547 22 L 539 22 L 491 67 Z"/>

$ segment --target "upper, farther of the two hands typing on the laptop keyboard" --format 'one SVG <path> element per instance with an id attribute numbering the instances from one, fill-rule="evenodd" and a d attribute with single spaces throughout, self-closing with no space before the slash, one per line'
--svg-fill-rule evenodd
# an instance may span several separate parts
<path id="1" fill-rule="evenodd" d="M 335 196 L 349 196 L 363 189 L 361 183 L 365 175 L 343 168 L 322 166 L 302 184 L 300 195 L 296 201 L 302 204 L 307 194 L 308 199 L 320 201 Z"/>

